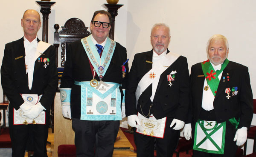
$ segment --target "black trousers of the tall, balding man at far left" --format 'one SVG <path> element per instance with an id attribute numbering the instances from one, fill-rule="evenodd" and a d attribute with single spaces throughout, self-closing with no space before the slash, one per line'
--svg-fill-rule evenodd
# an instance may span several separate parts
<path id="1" fill-rule="evenodd" d="M 24 157 L 26 144 L 32 136 L 34 157 L 47 157 L 48 126 L 43 124 L 13 125 L 13 116 L 9 115 L 9 131 L 12 140 L 12 157 Z"/>

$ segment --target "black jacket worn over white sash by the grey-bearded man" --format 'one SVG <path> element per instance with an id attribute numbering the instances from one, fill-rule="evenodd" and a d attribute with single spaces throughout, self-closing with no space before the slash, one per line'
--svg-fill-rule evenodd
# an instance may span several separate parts
<path id="1" fill-rule="evenodd" d="M 169 53 L 169 50 L 167 50 Z M 154 100 L 151 102 L 152 84 L 143 91 L 138 99 L 137 108 L 135 92 L 142 77 L 152 69 L 153 50 L 135 54 L 129 74 L 128 87 L 125 91 L 126 116 L 149 113 L 156 119 L 171 117 L 185 121 L 189 107 L 189 71 L 186 57 L 180 56 L 160 76 L 155 92 Z M 146 62 L 147 61 L 147 62 Z M 148 62 L 149 61 L 149 62 Z M 175 80 L 169 86 L 167 75 L 176 71 Z M 141 107 L 141 108 L 140 108 Z M 142 113 L 143 111 L 143 113 Z"/>

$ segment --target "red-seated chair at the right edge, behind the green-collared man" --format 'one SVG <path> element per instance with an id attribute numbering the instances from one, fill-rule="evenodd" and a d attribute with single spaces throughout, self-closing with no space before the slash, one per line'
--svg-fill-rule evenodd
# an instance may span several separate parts
<path id="1" fill-rule="evenodd" d="M 253 99 L 253 114 L 256 114 L 256 99 Z M 251 126 L 247 131 L 247 138 L 253 139 L 253 153 L 256 152 L 256 126 Z M 244 143 L 244 155 L 246 155 L 247 141 Z"/>

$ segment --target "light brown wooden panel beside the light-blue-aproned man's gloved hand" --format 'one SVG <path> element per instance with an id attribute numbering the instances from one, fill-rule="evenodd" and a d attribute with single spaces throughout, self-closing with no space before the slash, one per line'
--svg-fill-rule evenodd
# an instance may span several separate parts
<path id="1" fill-rule="evenodd" d="M 62 116 L 60 93 L 54 99 L 54 157 L 58 157 L 58 146 L 74 144 L 75 132 L 70 119 Z"/>

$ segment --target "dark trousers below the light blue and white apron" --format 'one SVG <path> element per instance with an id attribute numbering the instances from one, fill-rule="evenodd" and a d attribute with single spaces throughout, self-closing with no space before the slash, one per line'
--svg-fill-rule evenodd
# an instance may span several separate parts
<path id="1" fill-rule="evenodd" d="M 112 157 L 116 126 L 119 126 L 119 120 L 90 121 L 73 118 L 76 157 Z"/>

